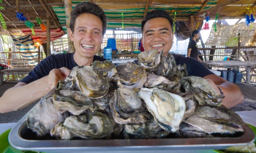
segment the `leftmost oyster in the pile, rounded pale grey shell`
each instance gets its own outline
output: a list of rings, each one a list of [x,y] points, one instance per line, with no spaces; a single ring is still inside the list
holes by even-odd
[[[40,101],[27,114],[27,127],[35,132],[38,136],[44,136],[60,121],[65,119],[53,103],[52,97]]]

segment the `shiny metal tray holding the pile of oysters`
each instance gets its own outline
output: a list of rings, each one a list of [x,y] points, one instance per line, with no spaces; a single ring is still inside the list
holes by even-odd
[[[51,95],[55,89],[49,92]],[[45,97],[47,97],[45,96]],[[45,98],[44,97],[44,98]],[[19,150],[46,152],[166,152],[166,150],[224,149],[234,145],[248,145],[255,140],[252,129],[243,125],[244,133],[238,137],[221,138],[164,138],[164,139],[111,139],[111,140],[53,140],[50,136],[37,137],[26,126],[26,117],[18,121],[11,130],[8,140]]]

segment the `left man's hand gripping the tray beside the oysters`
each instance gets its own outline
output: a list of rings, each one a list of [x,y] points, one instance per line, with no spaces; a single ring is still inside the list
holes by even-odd
[[[58,81],[64,80],[70,73],[70,70],[66,67],[61,67],[59,69],[52,69],[48,75],[49,85],[54,88]]]

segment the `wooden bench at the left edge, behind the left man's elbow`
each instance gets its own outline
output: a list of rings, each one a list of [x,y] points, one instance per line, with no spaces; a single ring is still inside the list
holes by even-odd
[[[0,70],[0,84],[3,84],[4,74],[28,74],[33,70],[34,67],[13,67],[10,69]]]

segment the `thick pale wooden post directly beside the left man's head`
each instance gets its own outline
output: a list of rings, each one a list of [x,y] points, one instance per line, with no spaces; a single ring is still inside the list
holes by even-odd
[[[69,36],[69,23],[70,23],[70,13],[72,11],[72,0],[64,0],[65,4],[65,12],[66,12],[66,29],[68,34],[68,46],[69,46],[69,52],[75,52],[74,43],[70,40]]]

